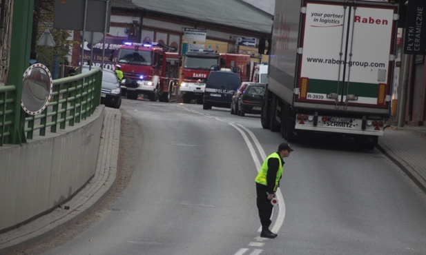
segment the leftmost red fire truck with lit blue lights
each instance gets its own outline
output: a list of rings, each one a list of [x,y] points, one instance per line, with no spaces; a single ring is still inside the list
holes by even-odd
[[[143,94],[150,101],[170,101],[179,79],[179,61],[179,54],[155,43],[124,43],[115,65],[124,74],[123,94],[128,99]]]

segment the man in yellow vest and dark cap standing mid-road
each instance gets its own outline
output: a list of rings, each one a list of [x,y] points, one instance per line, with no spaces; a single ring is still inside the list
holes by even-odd
[[[260,223],[262,224],[262,232],[260,237],[275,238],[278,234],[274,234],[269,230],[271,225],[271,215],[273,205],[271,200],[275,197],[275,192],[280,184],[282,176],[283,159],[293,152],[288,143],[281,143],[278,146],[278,151],[273,152],[260,167],[258,176],[256,176],[256,204],[258,205]]]

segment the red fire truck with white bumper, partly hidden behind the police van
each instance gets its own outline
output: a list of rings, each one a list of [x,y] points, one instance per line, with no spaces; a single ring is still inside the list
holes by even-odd
[[[182,64],[180,93],[184,103],[195,99],[203,103],[206,79],[211,70],[237,68],[242,81],[249,81],[251,58],[245,54],[218,53],[212,50],[188,51]]]

